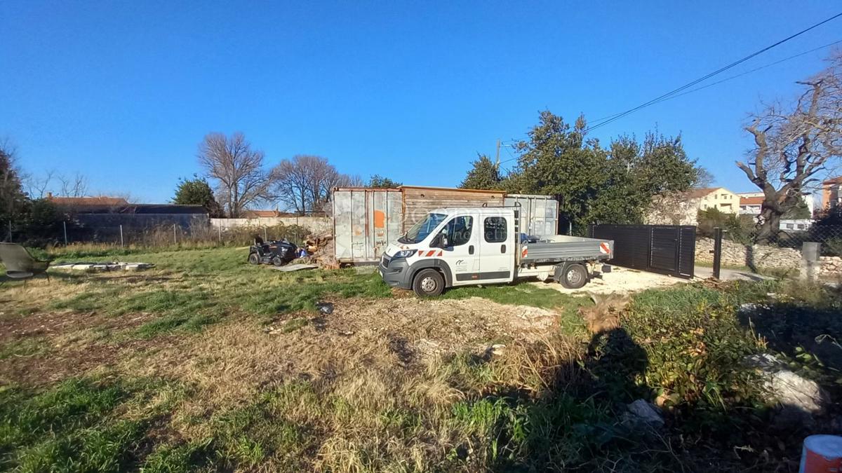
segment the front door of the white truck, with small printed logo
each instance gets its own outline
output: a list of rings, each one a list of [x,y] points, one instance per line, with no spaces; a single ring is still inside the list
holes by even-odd
[[[447,237],[448,246],[442,249],[441,258],[450,268],[453,285],[471,284],[479,273],[479,231],[472,215],[456,215],[448,221],[441,233]]]

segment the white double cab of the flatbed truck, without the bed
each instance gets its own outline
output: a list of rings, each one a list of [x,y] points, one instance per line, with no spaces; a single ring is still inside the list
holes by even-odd
[[[516,221],[512,207],[432,210],[386,247],[381,276],[386,284],[419,295],[510,282],[518,247]]]

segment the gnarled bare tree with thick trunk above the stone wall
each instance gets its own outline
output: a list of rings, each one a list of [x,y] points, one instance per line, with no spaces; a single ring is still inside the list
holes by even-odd
[[[778,234],[781,215],[802,202],[805,189],[829,173],[842,156],[842,54],[807,81],[790,107],[775,104],[754,115],[745,128],[754,137],[743,173],[763,191],[755,241],[767,243]]]

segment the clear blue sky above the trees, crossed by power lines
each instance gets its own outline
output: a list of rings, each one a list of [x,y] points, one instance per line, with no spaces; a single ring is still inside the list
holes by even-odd
[[[838,2],[0,2],[0,136],[29,173],[170,199],[210,131],[241,130],[269,165],[455,186],[477,152],[538,112],[595,120],[842,11]],[[842,19],[726,72],[842,40]],[[734,191],[761,100],[788,98],[829,49],[617,120],[656,125]],[[501,159],[508,159],[504,148]],[[509,163],[510,164],[510,163]]]

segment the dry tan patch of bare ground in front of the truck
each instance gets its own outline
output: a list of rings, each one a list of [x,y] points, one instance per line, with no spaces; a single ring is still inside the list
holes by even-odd
[[[400,376],[448,353],[539,340],[557,324],[553,311],[480,298],[331,302],[330,315],[296,312],[268,327],[251,318],[210,327],[152,356],[126,359],[121,369],[184,380],[200,391],[196,397],[205,404],[196,408],[205,410],[238,404],[288,380],[330,382],[360,369]],[[306,323],[288,323],[302,319]]]

